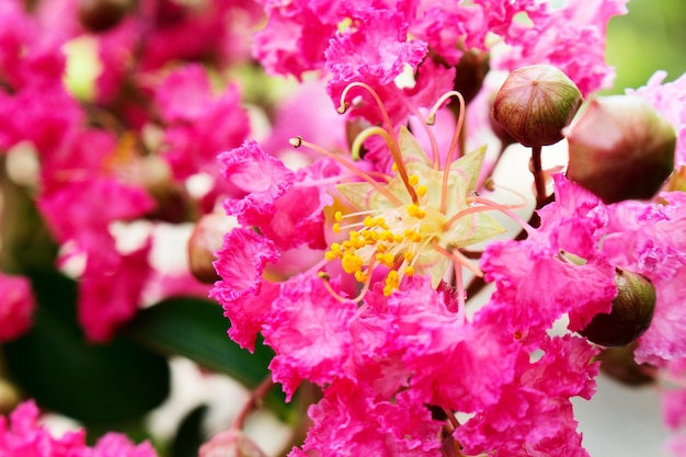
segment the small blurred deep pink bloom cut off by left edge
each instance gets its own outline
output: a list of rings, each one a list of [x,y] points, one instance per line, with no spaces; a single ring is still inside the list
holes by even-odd
[[[21,336],[31,328],[36,308],[31,283],[0,273],[0,342]]]

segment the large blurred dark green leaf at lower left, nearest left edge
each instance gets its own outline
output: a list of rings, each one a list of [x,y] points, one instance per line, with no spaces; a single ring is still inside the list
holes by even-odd
[[[76,283],[56,272],[30,276],[35,324],[3,346],[10,375],[26,396],[93,424],[139,418],[168,397],[164,357],[121,338],[89,344],[76,320]]]

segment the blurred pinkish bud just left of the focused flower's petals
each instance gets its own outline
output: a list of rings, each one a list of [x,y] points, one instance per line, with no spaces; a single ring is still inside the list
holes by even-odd
[[[201,218],[188,239],[188,270],[201,283],[214,284],[220,277],[213,262],[215,252],[221,249],[224,235],[237,226],[236,218],[210,213]]]

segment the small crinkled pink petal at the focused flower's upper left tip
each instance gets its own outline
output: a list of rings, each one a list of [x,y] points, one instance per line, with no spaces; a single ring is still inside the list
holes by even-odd
[[[226,180],[245,193],[242,198],[224,202],[229,215],[270,210],[295,181],[295,174],[281,160],[265,153],[253,140],[220,153],[218,160]]]

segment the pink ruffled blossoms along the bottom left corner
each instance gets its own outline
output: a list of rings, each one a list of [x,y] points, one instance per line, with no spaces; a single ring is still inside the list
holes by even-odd
[[[38,423],[39,411],[32,400],[21,403],[9,419],[0,416],[0,455],[3,457],[156,457],[150,443],[132,443],[118,433],[107,433],[90,447],[80,429],[54,437]]]

